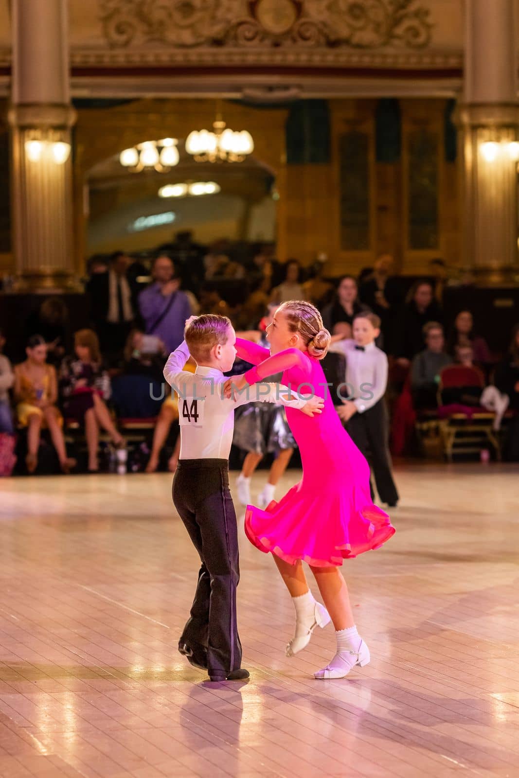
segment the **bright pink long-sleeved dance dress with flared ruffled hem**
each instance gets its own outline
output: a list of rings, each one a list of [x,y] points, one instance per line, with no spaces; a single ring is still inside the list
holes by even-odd
[[[339,566],[343,559],[380,548],[395,527],[373,505],[369,465],[342,426],[319,360],[298,349],[270,356],[268,349],[241,338],[236,348],[241,359],[255,365],[245,373],[248,384],[282,371],[285,386],[324,398],[323,412],[311,418],[286,408],[303,478],[265,510],[247,505],[247,538],[290,564],[302,559],[315,567]]]

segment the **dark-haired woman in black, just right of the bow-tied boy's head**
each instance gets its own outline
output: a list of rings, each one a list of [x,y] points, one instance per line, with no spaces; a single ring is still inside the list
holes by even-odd
[[[394,353],[399,365],[409,366],[413,357],[423,349],[424,326],[430,321],[442,321],[441,309],[433,298],[430,282],[417,281],[409,289],[405,306],[398,316]]]

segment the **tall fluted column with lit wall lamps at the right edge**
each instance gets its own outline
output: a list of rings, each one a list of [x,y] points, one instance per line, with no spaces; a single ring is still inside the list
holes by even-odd
[[[519,103],[515,0],[465,0],[465,79],[458,109],[464,263],[482,283],[510,282],[517,264]]]

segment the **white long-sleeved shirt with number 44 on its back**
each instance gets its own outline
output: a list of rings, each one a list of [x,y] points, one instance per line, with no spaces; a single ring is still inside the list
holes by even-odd
[[[303,408],[305,398],[288,399],[289,390],[281,384],[254,384],[238,394],[236,400],[226,398],[223,385],[226,377],[221,370],[197,367],[195,373],[183,370],[189,359],[189,349],[182,342],[170,354],[164,377],[178,393],[178,413],[181,425],[181,459],[228,459],[233,442],[234,408],[251,401],[275,402],[290,408]]]

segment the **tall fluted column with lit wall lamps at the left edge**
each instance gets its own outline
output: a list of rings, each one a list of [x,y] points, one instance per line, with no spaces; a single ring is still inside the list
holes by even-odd
[[[66,0],[12,0],[15,290],[75,289]]]

